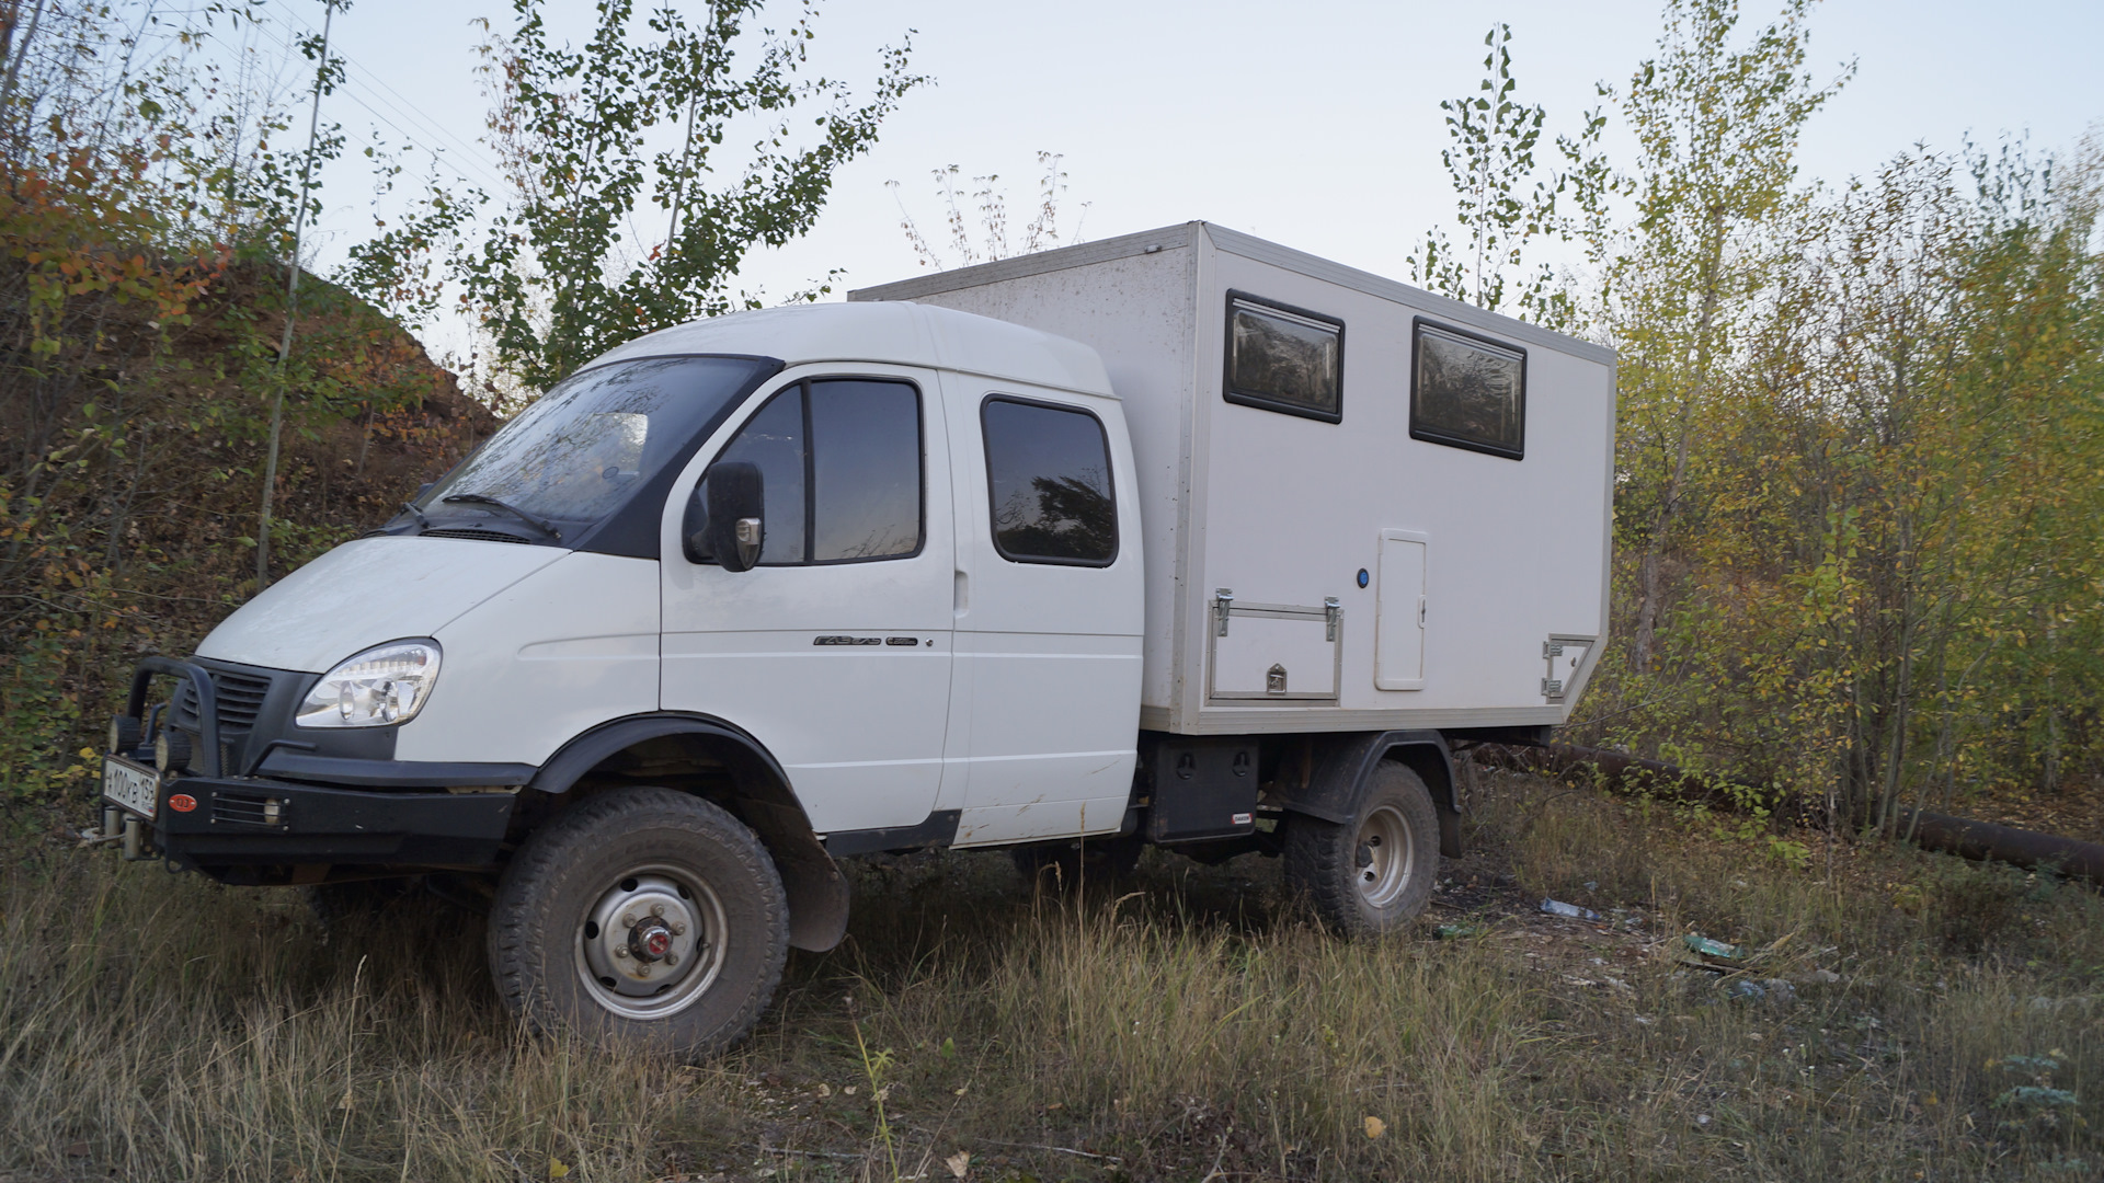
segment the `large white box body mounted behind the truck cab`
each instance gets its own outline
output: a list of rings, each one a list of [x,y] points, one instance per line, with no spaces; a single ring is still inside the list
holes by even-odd
[[[1340,421],[1222,398],[1229,293],[1344,324]],[[1610,349],[1208,223],[848,299],[974,312],[1102,356],[1138,469],[1142,728],[1570,720],[1607,636]],[[1525,352],[1519,459],[1412,438],[1418,320]]]

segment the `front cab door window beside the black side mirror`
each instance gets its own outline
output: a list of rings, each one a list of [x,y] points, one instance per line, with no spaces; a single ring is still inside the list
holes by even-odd
[[[926,482],[919,389],[911,383],[797,383],[768,400],[715,459],[760,467],[762,566],[919,554]],[[707,526],[707,488],[703,480],[688,503],[688,537]]]

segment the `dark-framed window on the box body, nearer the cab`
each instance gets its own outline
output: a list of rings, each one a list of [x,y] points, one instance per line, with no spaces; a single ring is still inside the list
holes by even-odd
[[[1338,423],[1344,417],[1344,322],[1227,293],[1222,394],[1241,406]]]

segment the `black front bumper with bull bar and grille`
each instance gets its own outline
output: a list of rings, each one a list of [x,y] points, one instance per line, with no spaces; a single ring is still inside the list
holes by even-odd
[[[248,726],[236,735],[225,735],[221,724],[219,680],[229,671],[274,686],[261,709],[246,711]],[[177,678],[179,701],[149,714],[145,699],[154,676]],[[160,777],[154,819],[133,823],[151,827],[160,857],[223,882],[252,884],[311,882],[332,867],[497,863],[518,787],[537,770],[532,764],[391,760],[391,735],[381,758],[318,751],[316,739],[271,726],[274,716],[290,718],[288,709],[274,709],[276,699],[305,693],[301,678],[311,682],[311,676],[227,663],[168,657],[139,663],[126,711],[143,722],[147,743],[154,726],[173,726],[191,737],[194,751],[187,770]],[[151,764],[145,749],[118,756]]]

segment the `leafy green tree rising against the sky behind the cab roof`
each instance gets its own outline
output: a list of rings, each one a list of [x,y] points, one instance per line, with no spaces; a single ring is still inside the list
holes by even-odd
[[[631,0],[600,0],[581,48],[549,38],[545,0],[513,8],[511,38],[484,44],[509,204],[452,276],[497,364],[528,389],[642,333],[755,305],[730,288],[745,255],[808,232],[833,171],[924,82],[909,44],[882,51],[861,105],[844,82],[806,76],[814,0],[757,36],[745,23],[762,0],[711,0],[696,23],[669,4],[638,21]],[[656,128],[671,143],[650,152]],[[711,185],[739,128],[755,128],[749,158]],[[644,202],[663,229],[640,217]]]

